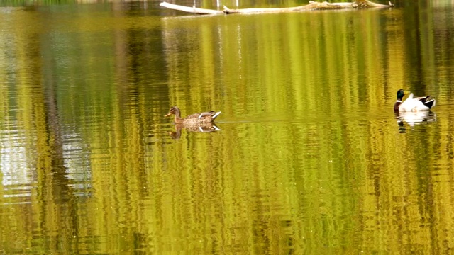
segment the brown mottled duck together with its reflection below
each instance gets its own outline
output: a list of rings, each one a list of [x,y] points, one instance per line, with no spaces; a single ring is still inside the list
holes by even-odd
[[[194,113],[188,115],[186,118],[181,117],[181,113],[177,106],[170,108],[169,113],[165,115],[168,117],[170,115],[175,115],[175,132],[171,132],[170,136],[172,138],[179,138],[181,136],[182,128],[185,128],[189,132],[214,132],[219,131],[220,129],[214,124],[214,119],[221,114],[220,111],[209,111],[202,113]]]

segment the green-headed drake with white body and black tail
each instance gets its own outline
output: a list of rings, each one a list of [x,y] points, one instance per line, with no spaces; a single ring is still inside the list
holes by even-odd
[[[394,111],[428,111],[435,106],[435,99],[430,98],[431,96],[413,97],[413,93],[410,94],[409,98],[406,98],[402,102],[402,98],[405,96],[405,91],[399,89],[397,91],[397,101],[394,103]]]

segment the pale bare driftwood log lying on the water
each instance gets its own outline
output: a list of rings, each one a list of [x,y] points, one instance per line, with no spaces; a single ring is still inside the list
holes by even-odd
[[[309,4],[305,6],[289,7],[289,8],[243,8],[243,9],[230,9],[224,6],[223,11],[211,10],[206,8],[196,8],[179,6],[177,4],[169,4],[162,2],[160,6],[170,8],[172,10],[184,11],[187,13],[194,14],[231,14],[231,13],[273,13],[273,12],[285,12],[285,11],[310,11],[310,10],[333,10],[343,8],[384,8],[392,7],[393,4],[389,2],[389,5],[376,4],[368,0],[356,0],[352,3],[328,3],[328,2],[316,2],[309,1]]]

